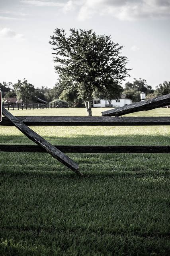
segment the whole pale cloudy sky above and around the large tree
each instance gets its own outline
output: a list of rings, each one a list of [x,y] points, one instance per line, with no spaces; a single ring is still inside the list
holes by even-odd
[[[0,0],[0,82],[53,87],[56,27],[111,34],[133,68],[130,81],[170,80],[170,0]]]

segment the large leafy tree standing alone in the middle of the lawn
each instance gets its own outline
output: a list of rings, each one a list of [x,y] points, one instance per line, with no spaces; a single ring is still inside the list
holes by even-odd
[[[70,29],[66,36],[64,29],[56,28],[49,43],[53,45],[55,71],[72,79],[89,116],[92,93],[105,92],[107,84],[120,84],[128,75],[127,57],[121,55],[123,46],[112,42],[110,36],[82,29]]]

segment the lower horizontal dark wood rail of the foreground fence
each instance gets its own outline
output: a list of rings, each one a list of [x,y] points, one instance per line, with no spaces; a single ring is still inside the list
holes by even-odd
[[[68,153],[170,153],[170,146],[55,146]],[[0,145],[0,152],[46,153],[34,145]]]

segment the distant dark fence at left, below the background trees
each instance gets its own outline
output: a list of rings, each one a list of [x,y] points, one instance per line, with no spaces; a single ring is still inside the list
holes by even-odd
[[[23,104],[23,103],[3,103],[4,108],[8,110],[19,110],[19,109],[38,109],[38,108],[68,108],[68,103],[65,102],[53,102],[53,103],[32,103],[32,104]]]

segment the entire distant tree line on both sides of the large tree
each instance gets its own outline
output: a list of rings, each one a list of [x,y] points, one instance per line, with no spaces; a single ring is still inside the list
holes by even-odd
[[[69,88],[73,88],[70,90]],[[80,107],[84,104],[83,97],[80,96],[78,90],[74,88],[72,80],[68,77],[61,77],[53,88],[47,88],[41,86],[35,88],[33,84],[30,84],[26,79],[22,82],[18,80],[17,83],[2,82],[0,83],[0,90],[2,91],[2,98],[16,97],[18,100],[23,100],[25,104],[34,103],[37,98],[41,98],[47,102],[66,101],[70,107]],[[141,100],[140,93],[145,92],[146,98],[154,98],[165,94],[170,94],[170,81],[164,81],[162,84],[156,86],[154,90],[152,86],[147,84],[145,79],[134,78],[133,82],[127,82],[124,86],[119,85],[117,94],[113,90],[112,86],[108,86],[105,92],[95,90],[92,93],[92,98],[107,99],[111,104],[111,100],[118,99],[120,94],[126,94],[126,98],[132,100],[132,102],[138,102]]]

